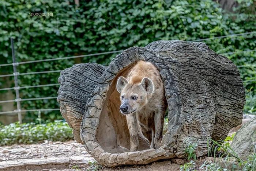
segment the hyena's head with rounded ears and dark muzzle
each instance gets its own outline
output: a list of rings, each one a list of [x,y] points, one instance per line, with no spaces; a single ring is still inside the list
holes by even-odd
[[[151,79],[144,77],[140,83],[131,84],[124,77],[117,80],[117,91],[120,93],[120,111],[123,114],[131,114],[139,111],[147,104],[154,91]]]

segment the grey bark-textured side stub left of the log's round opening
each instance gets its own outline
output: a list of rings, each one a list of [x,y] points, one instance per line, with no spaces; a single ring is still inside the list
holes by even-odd
[[[60,103],[61,115],[73,128],[74,139],[78,143],[82,143],[80,125],[86,102],[105,69],[105,66],[97,63],[86,63],[74,65],[60,73],[57,101]]]

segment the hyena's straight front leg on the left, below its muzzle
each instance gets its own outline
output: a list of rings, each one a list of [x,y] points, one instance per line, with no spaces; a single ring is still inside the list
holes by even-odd
[[[130,133],[130,151],[138,151],[139,139],[138,139],[138,125],[135,114],[129,114],[126,116],[128,129]]]

